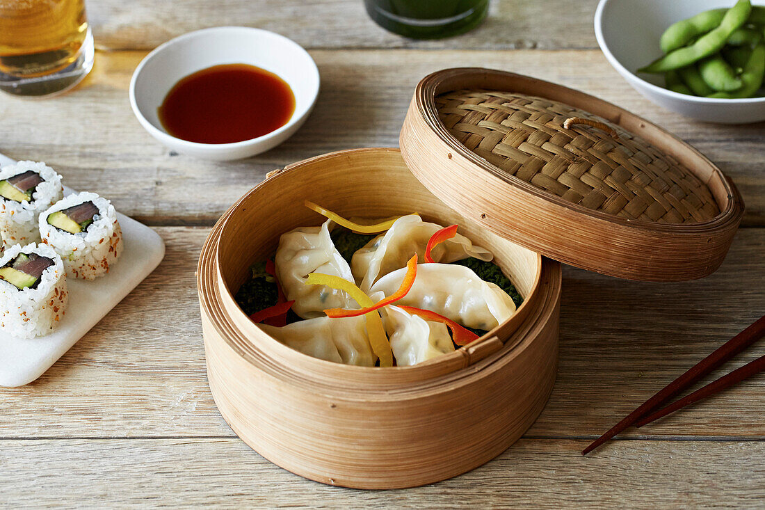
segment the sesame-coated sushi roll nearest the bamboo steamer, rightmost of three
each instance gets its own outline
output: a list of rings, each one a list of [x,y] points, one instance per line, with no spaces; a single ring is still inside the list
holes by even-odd
[[[57,201],[40,214],[42,242],[63,259],[69,276],[95,280],[109,272],[122,253],[122,229],[114,206],[95,193]]]

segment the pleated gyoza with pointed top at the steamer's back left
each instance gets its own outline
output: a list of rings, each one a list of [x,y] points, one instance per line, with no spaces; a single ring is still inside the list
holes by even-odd
[[[353,282],[350,266],[337,251],[329,230],[330,220],[321,227],[301,227],[282,234],[274,263],[288,300],[295,300],[292,309],[303,319],[324,315],[327,308],[358,308],[342,290],[325,285],[306,285],[311,273],[340,276]]]

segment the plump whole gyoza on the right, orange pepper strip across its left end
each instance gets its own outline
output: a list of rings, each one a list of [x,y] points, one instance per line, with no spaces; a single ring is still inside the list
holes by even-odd
[[[405,274],[406,268],[402,268],[382,276],[371,292],[392,295]],[[441,263],[419,264],[412,289],[396,304],[431,310],[468,328],[486,331],[516,311],[513,299],[499,286],[484,282],[468,267]]]

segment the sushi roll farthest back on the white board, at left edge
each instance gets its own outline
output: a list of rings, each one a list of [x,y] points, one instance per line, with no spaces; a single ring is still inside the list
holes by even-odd
[[[61,176],[45,163],[20,161],[0,169],[3,247],[39,243],[37,217],[62,196]]]

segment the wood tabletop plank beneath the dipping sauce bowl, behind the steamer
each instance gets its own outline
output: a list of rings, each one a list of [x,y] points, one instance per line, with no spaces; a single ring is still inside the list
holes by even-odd
[[[529,2],[532,3],[532,2]],[[29,102],[0,96],[0,152],[48,162],[67,184],[91,189],[150,224],[212,224],[265,173],[323,152],[396,146],[416,83],[452,66],[495,67],[565,83],[675,132],[716,162],[744,195],[745,225],[765,225],[765,124],[697,123],[649,103],[600,51],[313,51],[322,91],[290,140],[239,162],[205,162],[155,142],[130,110],[127,89],[144,52],[99,52],[73,93]]]

